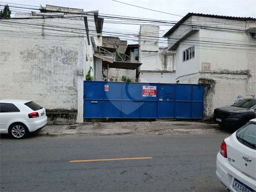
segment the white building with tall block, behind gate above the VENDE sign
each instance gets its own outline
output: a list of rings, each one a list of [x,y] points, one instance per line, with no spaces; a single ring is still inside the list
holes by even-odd
[[[175,83],[175,52],[159,48],[159,26],[141,25],[138,59],[139,82]]]

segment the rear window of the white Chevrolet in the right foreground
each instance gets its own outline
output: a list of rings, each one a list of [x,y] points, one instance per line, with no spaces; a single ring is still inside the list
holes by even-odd
[[[240,143],[256,149],[256,124],[249,123],[240,128],[236,132],[236,138]]]

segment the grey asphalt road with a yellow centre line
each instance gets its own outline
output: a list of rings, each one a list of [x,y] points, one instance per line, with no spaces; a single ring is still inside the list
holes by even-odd
[[[1,138],[1,191],[226,191],[216,154],[229,134]],[[70,162],[105,158],[140,160]]]

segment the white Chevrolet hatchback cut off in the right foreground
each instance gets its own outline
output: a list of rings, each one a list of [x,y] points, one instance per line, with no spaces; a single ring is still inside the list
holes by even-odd
[[[256,119],[224,139],[216,160],[216,174],[230,191],[256,191]]]

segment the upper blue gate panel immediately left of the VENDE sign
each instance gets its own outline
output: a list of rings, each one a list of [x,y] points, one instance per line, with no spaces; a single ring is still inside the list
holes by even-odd
[[[124,83],[122,88],[123,100],[140,100],[140,83]]]

